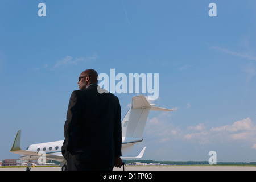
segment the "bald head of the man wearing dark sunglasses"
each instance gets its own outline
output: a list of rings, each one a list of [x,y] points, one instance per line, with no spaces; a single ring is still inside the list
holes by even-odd
[[[86,69],[79,78],[79,89],[85,89],[90,84],[98,84],[98,73],[94,69]]]

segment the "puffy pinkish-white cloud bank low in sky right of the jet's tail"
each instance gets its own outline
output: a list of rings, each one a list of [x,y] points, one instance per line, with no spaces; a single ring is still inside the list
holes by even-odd
[[[256,125],[249,117],[233,122],[232,125],[209,127],[209,122],[204,122],[181,130],[171,121],[171,113],[160,113],[148,119],[145,131],[147,139],[159,143],[168,143],[170,140],[199,145],[243,142],[256,149]]]

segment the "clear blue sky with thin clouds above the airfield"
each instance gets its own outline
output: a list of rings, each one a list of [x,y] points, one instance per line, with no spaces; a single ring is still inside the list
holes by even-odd
[[[46,4],[46,17],[38,4]],[[210,17],[209,3],[217,16]],[[256,161],[255,1],[0,2],[0,159],[64,139],[70,94],[88,68],[159,73],[143,159]],[[122,117],[136,94],[116,94]]]

